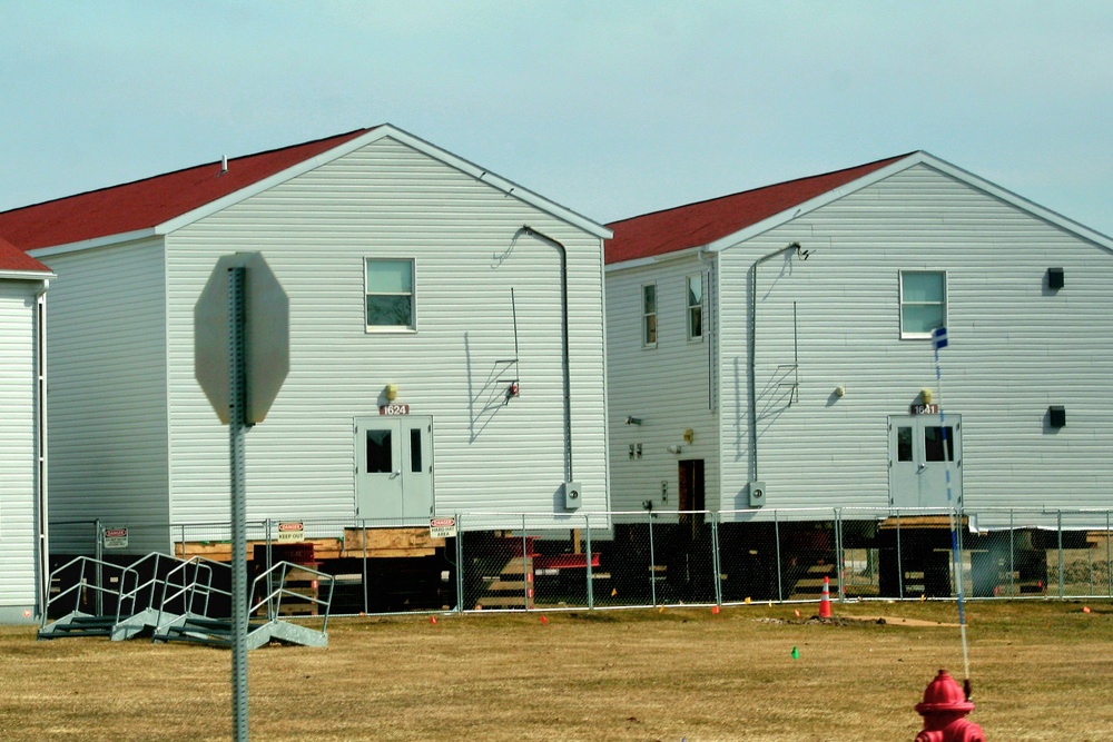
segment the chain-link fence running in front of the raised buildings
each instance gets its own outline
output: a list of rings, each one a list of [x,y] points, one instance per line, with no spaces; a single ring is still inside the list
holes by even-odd
[[[333,614],[831,600],[1113,597],[1113,511],[762,509],[460,514],[423,522],[253,521],[248,565],[335,576]],[[447,530],[445,527],[447,526]],[[119,564],[130,528],[69,523]],[[226,523],[160,531],[178,560],[230,561]],[[52,551],[59,551],[57,547]],[[56,564],[76,553],[59,552]],[[961,566],[956,570],[956,564]],[[88,575],[75,578],[88,581]],[[67,585],[56,575],[52,590]],[[312,590],[318,587],[314,583]]]

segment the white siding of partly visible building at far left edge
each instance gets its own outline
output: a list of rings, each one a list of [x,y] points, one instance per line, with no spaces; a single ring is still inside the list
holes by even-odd
[[[0,278],[0,623],[36,603],[36,291]]]

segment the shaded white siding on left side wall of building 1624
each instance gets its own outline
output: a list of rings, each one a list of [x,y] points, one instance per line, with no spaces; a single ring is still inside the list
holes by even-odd
[[[129,553],[166,550],[161,240],[43,260],[58,274],[48,334],[51,548],[91,553],[99,518],[129,528]],[[86,523],[61,524],[73,521]]]

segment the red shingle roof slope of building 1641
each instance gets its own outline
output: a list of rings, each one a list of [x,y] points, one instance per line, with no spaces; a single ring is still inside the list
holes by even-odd
[[[781,211],[857,180],[907,155],[825,175],[789,180],[708,201],[653,211],[607,227],[607,263],[621,263],[708,245]]]

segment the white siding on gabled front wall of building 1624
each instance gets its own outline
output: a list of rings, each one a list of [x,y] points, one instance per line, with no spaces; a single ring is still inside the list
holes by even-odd
[[[168,236],[175,522],[227,517],[193,307],[237,250],[262,250],[290,303],[290,372],[247,436],[249,518],[354,517],[353,422],[388,384],[433,417],[437,514],[562,513],[560,250],[525,225],[567,247],[573,478],[581,512],[607,509],[600,239],[387,138]],[[367,333],[364,260],[410,256],[420,332]],[[508,378],[521,396],[505,403]]]

